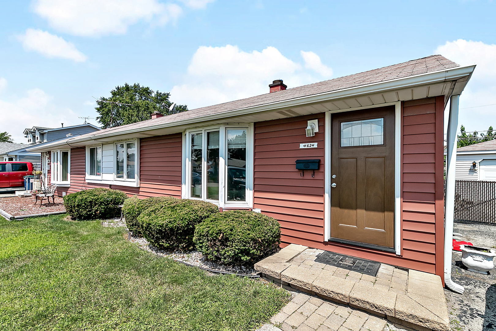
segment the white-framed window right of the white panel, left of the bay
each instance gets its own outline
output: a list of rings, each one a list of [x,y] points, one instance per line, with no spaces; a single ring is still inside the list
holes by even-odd
[[[136,181],[136,141],[117,142],[114,152],[115,179]]]

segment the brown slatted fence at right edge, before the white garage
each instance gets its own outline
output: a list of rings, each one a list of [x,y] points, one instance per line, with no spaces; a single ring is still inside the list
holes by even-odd
[[[455,219],[496,223],[496,182],[457,180],[454,216]]]

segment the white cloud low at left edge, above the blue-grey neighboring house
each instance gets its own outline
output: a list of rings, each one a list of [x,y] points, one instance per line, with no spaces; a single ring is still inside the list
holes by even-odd
[[[0,109],[2,131],[10,133],[14,142],[26,142],[22,134],[25,128],[60,128],[61,123],[66,127],[82,123],[71,109],[57,106],[53,98],[39,88],[12,100],[0,99]]]

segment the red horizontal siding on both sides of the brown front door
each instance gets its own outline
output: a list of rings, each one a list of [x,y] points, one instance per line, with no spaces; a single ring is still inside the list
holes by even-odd
[[[254,207],[279,220],[282,246],[302,244],[441,274],[442,175],[437,170],[442,166],[443,107],[442,97],[402,105],[401,256],[323,241],[323,130],[311,138],[304,131],[307,121],[315,118],[323,128],[323,115],[255,123]],[[299,148],[299,143],[308,141],[318,142],[318,148]],[[295,169],[299,158],[321,160],[314,178],[308,173],[300,177]]]

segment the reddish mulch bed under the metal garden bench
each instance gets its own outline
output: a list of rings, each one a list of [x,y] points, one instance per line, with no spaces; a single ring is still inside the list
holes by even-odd
[[[50,199],[52,201],[52,199]],[[43,200],[43,205],[40,207],[40,200],[35,204],[35,199],[31,197],[10,197],[0,198],[0,209],[9,213],[12,216],[23,216],[32,214],[41,214],[45,212],[65,211],[63,199],[55,197],[55,203],[48,203],[47,199]]]

